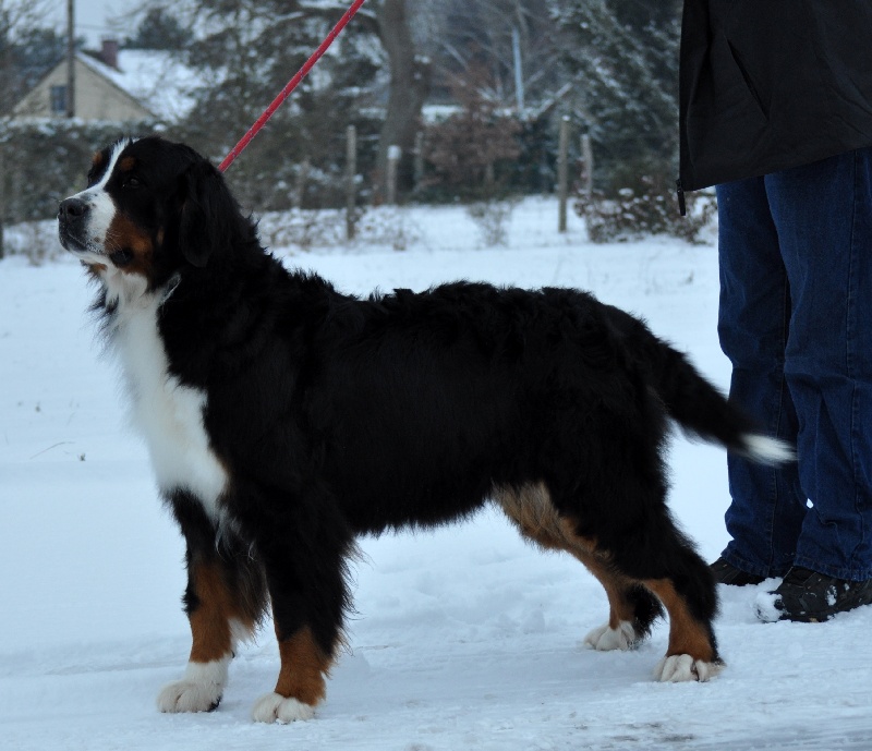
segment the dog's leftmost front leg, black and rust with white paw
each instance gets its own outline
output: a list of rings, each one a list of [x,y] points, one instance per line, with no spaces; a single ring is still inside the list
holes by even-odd
[[[164,687],[161,712],[210,712],[221,701],[238,641],[254,631],[265,606],[259,565],[242,544],[217,529],[202,508],[173,500],[187,543],[185,611],[191,625],[191,655],[184,677]]]

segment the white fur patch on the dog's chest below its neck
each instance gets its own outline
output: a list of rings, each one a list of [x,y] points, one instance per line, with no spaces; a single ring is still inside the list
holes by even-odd
[[[217,519],[228,483],[203,423],[206,393],[179,383],[157,328],[159,298],[145,294],[121,305],[114,341],[133,402],[132,417],[145,437],[158,486],[184,489]]]

